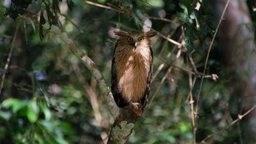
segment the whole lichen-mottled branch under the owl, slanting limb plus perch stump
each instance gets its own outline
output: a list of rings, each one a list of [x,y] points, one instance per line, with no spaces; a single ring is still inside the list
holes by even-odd
[[[32,17],[31,17],[32,16]],[[34,19],[34,15],[31,13],[24,12],[24,17],[29,20],[33,20],[39,23],[38,19]],[[138,105],[130,105],[129,107],[119,108],[115,103],[112,93],[110,92],[109,86],[101,74],[97,65],[90,59],[79,47],[74,43],[74,41],[69,38],[66,32],[63,32],[58,26],[50,25],[45,22],[43,29],[54,33],[58,38],[60,38],[63,43],[65,43],[69,50],[71,50],[75,56],[90,70],[92,76],[96,79],[98,86],[103,94],[104,99],[109,107],[110,114],[114,118],[114,124],[112,130],[110,131],[108,143],[127,143],[129,137],[132,133],[135,123],[142,116],[142,109]]]

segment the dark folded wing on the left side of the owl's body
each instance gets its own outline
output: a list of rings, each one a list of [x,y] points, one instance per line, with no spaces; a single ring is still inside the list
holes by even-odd
[[[115,49],[117,48],[117,43],[115,44]],[[121,92],[120,92],[120,88],[118,86],[118,79],[117,79],[117,69],[115,69],[115,49],[114,49],[114,53],[113,53],[113,59],[112,59],[112,67],[111,67],[111,92],[113,94],[113,97],[115,99],[115,103],[117,103],[117,105],[119,107],[125,107],[128,105],[128,101],[126,101]]]

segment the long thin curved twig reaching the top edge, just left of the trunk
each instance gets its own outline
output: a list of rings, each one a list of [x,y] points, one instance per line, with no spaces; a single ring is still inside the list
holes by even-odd
[[[223,20],[223,16],[224,16],[224,14],[225,14],[226,8],[228,8],[229,2],[230,2],[230,0],[228,0],[228,2],[226,2],[225,8],[224,8],[224,10],[223,10],[223,12],[222,12],[222,16],[221,16],[220,19],[219,19],[218,26],[217,26],[217,28],[216,28],[216,31],[215,31],[215,33],[214,33],[214,35],[213,35],[211,44],[210,44],[210,46],[209,46],[208,53],[207,53],[207,57],[206,57],[206,61],[205,61],[205,68],[203,69],[203,75],[205,75],[205,71],[206,71],[206,67],[207,67],[207,62],[208,62],[208,58],[209,58],[209,55],[210,55],[210,51],[211,51],[211,49],[212,49],[213,41],[214,41],[214,39],[215,39],[215,37],[216,37],[216,34],[217,34],[217,32],[218,32],[220,23],[221,23],[222,20]],[[200,88],[199,88],[199,93],[198,93],[198,95],[197,95],[196,113],[197,113],[197,110],[198,110],[198,102],[199,102],[199,99],[200,99],[200,93],[201,93],[201,89],[202,89],[203,78],[204,78],[204,77],[202,77],[202,80],[201,80],[201,83],[200,83]]]

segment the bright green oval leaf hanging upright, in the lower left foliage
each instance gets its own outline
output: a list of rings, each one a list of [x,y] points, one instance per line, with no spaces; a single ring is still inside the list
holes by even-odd
[[[27,118],[28,121],[34,123],[37,121],[39,116],[39,107],[36,100],[31,100],[27,106]]]

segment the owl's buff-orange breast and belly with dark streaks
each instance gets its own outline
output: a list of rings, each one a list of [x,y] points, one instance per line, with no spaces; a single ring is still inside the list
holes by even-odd
[[[149,46],[134,49],[120,44],[114,55],[120,93],[127,101],[139,103],[146,91],[152,61]]]

